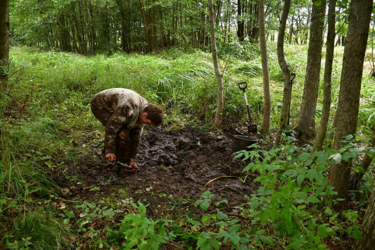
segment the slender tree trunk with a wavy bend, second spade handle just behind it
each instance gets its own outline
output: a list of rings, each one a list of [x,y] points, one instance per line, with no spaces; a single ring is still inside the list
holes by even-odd
[[[290,10],[290,1],[291,0],[285,0],[284,7],[281,14],[281,20],[279,25],[279,32],[278,32],[278,46],[277,46],[277,52],[278,52],[278,62],[280,65],[280,68],[283,73],[284,77],[284,93],[282,98],[282,109],[281,109],[281,117],[280,117],[280,123],[279,123],[279,129],[276,133],[275,138],[275,144],[273,145],[273,148],[276,148],[277,145],[280,143],[280,135],[283,129],[287,127],[288,122],[288,113],[289,113],[289,107],[290,107],[290,96],[291,96],[291,82],[290,82],[290,68],[287,63],[287,60],[285,60],[284,56],[284,36],[285,36],[285,26],[287,24],[287,18]]]

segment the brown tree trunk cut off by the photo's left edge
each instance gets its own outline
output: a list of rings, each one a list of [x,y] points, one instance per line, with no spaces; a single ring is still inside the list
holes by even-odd
[[[9,75],[9,0],[0,3],[0,91],[6,90]]]

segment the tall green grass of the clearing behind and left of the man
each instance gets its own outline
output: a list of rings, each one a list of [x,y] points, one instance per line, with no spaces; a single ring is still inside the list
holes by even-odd
[[[338,105],[342,54],[335,48],[332,77],[332,115]],[[219,51],[220,52],[220,51]],[[277,62],[276,45],[269,43],[271,126],[278,124],[282,106],[282,73]],[[291,105],[291,125],[297,123],[303,95],[307,46],[287,45],[285,55],[294,79]],[[211,54],[180,51],[162,52],[157,55],[117,53],[110,57],[62,52],[42,52],[27,47],[10,48],[12,58],[9,94],[0,96],[0,235],[9,231],[9,237],[22,241],[30,237],[26,222],[42,225],[54,217],[50,210],[31,210],[43,207],[36,200],[48,198],[57,187],[52,180],[54,171],[62,172],[91,156],[87,145],[102,138],[101,124],[90,113],[89,103],[101,90],[113,87],[130,88],[149,102],[165,108],[166,122],[171,127],[181,124],[209,127],[216,110],[216,78]],[[263,80],[260,55],[254,60],[243,61],[230,57],[226,64],[224,82],[225,108],[223,115],[227,127],[244,124],[247,119],[242,91],[237,82],[247,81],[247,96],[254,120],[262,122]],[[24,67],[24,68],[23,68]],[[321,80],[323,80],[324,58]],[[23,117],[18,117],[18,101],[29,95]],[[5,98],[7,97],[7,98]],[[17,100],[15,100],[17,99]],[[316,123],[319,125],[323,91],[319,90]],[[358,130],[369,135],[375,121],[375,80],[363,73]],[[51,174],[52,173],[52,174]],[[66,177],[68,178],[68,177]],[[370,180],[370,178],[369,178]],[[53,192],[53,191],[52,191]],[[14,226],[9,229],[9,222]],[[51,227],[58,228],[59,220],[52,220]],[[53,226],[54,225],[54,226]],[[61,229],[62,230],[62,229]],[[24,233],[27,232],[27,233]],[[51,243],[61,238],[56,232],[43,232]],[[63,234],[69,234],[66,229]],[[41,235],[34,234],[33,246],[41,242]],[[54,238],[56,237],[56,238]],[[25,238],[25,239],[26,239]],[[66,238],[64,238],[66,239]],[[66,244],[60,239],[61,246]],[[4,241],[3,241],[4,244]],[[40,245],[39,245],[40,246]],[[0,242],[1,247],[1,242]],[[48,248],[46,248],[48,249]]]

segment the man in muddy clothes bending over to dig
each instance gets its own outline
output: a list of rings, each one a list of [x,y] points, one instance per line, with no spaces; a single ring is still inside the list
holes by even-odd
[[[136,155],[144,124],[159,125],[163,108],[126,88],[110,88],[91,101],[93,115],[105,126],[105,158],[129,162],[138,171]]]

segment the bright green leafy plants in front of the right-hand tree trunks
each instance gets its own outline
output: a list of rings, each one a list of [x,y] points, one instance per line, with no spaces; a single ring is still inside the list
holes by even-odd
[[[249,209],[243,209],[246,217],[252,219],[252,232],[271,229],[270,234],[285,242],[285,249],[326,249],[324,238],[339,238],[336,235],[353,235],[360,239],[359,226],[354,211],[346,211],[342,217],[347,222],[339,223],[338,213],[333,213],[332,205],[340,199],[332,199],[337,194],[329,186],[327,168],[341,160],[358,159],[364,153],[359,150],[356,140],[348,135],[342,142],[347,143],[340,150],[328,149],[308,153],[311,147],[296,147],[292,136],[283,134],[285,145],[267,152],[265,150],[240,151],[236,157],[251,162],[243,172],[258,172],[254,181],[260,182],[258,193],[251,195]],[[259,145],[252,145],[257,149]],[[353,219],[354,218],[354,219]],[[257,239],[266,244],[263,239]]]

